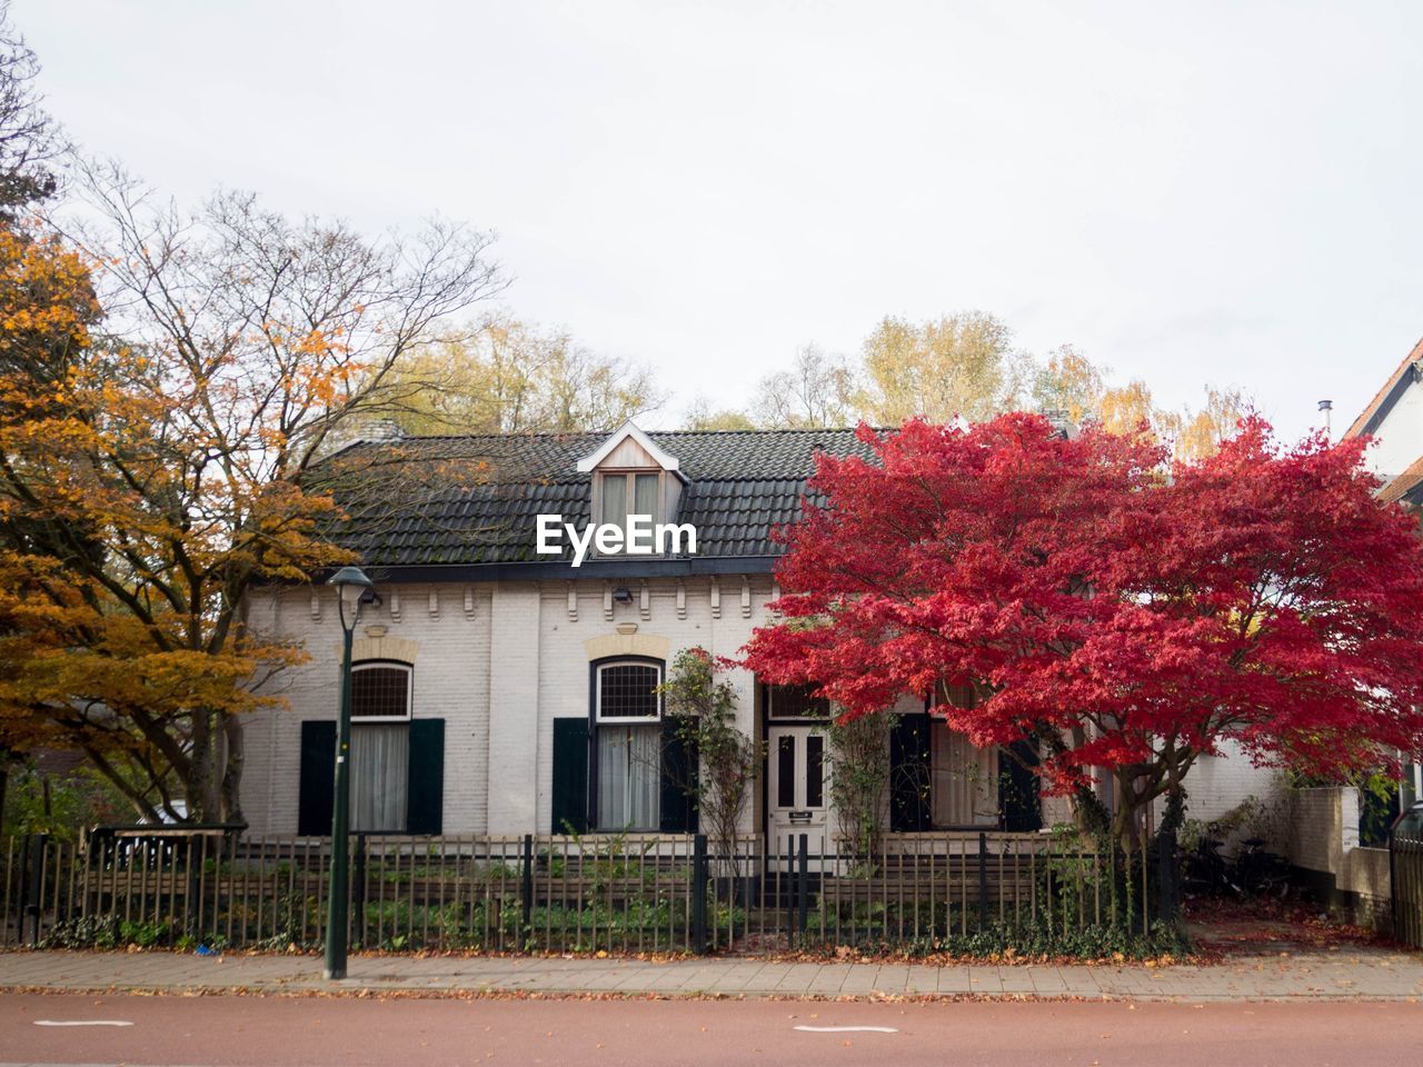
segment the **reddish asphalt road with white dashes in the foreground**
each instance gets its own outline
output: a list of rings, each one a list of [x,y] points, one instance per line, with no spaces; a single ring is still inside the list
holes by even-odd
[[[1420,1047],[1409,1003],[0,996],[4,1064],[1399,1067]]]

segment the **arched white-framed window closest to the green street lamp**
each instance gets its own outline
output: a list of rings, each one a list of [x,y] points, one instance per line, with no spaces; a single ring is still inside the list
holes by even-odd
[[[411,676],[407,663],[356,663],[351,667],[350,809],[354,831],[406,831]]]

